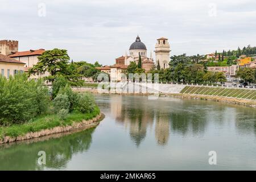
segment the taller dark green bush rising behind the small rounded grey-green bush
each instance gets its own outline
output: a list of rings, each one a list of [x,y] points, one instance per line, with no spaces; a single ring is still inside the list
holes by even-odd
[[[69,112],[72,112],[75,109],[75,106],[79,102],[79,95],[72,91],[71,86],[68,84],[64,87],[61,87],[58,94],[67,94],[68,100],[70,102]]]

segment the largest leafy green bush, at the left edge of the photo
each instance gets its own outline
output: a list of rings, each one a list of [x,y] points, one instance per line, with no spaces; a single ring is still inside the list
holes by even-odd
[[[43,82],[28,80],[26,74],[0,76],[0,125],[26,122],[49,105],[48,90]]]

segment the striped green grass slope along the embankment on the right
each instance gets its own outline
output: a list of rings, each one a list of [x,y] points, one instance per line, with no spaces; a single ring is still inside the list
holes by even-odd
[[[180,93],[203,94],[256,100],[256,90],[238,88],[212,88],[207,86],[185,86]]]

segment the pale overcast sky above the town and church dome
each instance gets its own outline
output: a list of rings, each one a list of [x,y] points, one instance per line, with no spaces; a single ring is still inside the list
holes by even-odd
[[[19,51],[67,49],[74,61],[114,64],[137,35],[148,56],[160,37],[171,55],[256,46],[255,0],[0,2],[0,39],[19,40]]]

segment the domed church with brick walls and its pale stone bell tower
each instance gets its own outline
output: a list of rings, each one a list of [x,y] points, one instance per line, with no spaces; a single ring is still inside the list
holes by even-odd
[[[150,57],[147,57],[147,48],[144,43],[141,42],[139,36],[137,36],[134,43],[131,44],[129,49],[129,55],[127,53],[125,56],[118,57],[115,59],[115,64],[112,66],[105,65],[104,67],[98,67],[102,72],[109,73],[110,80],[119,81],[121,80],[121,73],[125,73],[128,65],[131,62],[135,62],[138,65],[139,57],[142,61],[142,69],[145,72],[155,69],[156,65],[160,65],[160,68],[168,68],[170,62],[170,44],[168,39],[159,38],[157,39],[155,45],[155,59],[152,58],[152,52],[150,52]]]

